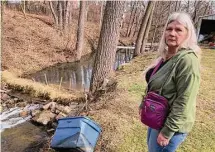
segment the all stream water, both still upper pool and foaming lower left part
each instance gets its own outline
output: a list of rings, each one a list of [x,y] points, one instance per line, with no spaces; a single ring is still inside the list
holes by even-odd
[[[116,53],[113,69],[116,70],[120,65],[128,63],[133,58],[133,50],[118,50]],[[83,90],[90,85],[94,55],[84,56],[80,62],[63,63],[48,67],[27,78],[34,81],[60,85],[65,88]],[[2,150],[8,152],[20,151],[41,151],[47,143],[47,134],[41,128],[31,124],[20,113],[32,109],[38,109],[39,105],[27,105],[25,108],[14,107],[0,113],[0,132],[2,134]],[[36,146],[35,146],[36,145]]]

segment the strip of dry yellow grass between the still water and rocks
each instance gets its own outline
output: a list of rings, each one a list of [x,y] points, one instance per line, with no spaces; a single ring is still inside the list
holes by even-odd
[[[50,99],[52,101],[67,104],[71,101],[82,100],[83,95],[80,92],[69,92],[64,89],[56,89],[58,87],[51,85],[44,85],[32,80],[19,78],[9,71],[2,72],[2,81],[5,82],[9,88],[13,90],[28,93],[33,97],[41,97]]]

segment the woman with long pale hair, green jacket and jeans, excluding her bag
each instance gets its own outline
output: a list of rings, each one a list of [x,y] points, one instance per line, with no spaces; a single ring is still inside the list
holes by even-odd
[[[186,13],[173,13],[164,29],[158,49],[159,57],[146,70],[146,81],[147,92],[158,92],[162,87],[161,96],[168,100],[170,108],[161,130],[148,128],[149,152],[174,152],[185,140],[195,121],[200,84],[201,50],[197,45],[190,16]],[[161,65],[151,76],[161,59]]]

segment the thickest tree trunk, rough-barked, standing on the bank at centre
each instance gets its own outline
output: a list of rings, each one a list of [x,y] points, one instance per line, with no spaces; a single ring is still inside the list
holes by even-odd
[[[104,79],[112,76],[125,1],[107,1],[98,49],[92,72],[90,92],[96,92]]]

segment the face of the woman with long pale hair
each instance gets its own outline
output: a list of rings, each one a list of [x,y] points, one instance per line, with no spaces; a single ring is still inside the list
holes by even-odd
[[[173,21],[167,25],[165,31],[165,41],[168,47],[178,47],[187,38],[187,29],[178,21]]]

